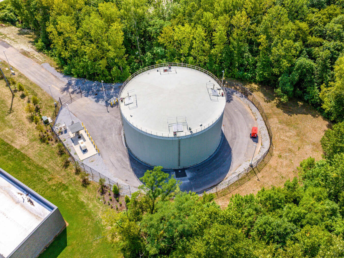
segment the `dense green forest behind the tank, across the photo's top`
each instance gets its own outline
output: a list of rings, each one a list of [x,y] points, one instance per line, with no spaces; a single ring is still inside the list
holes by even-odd
[[[67,74],[119,82],[144,66],[183,62],[268,84],[281,101],[298,97],[338,120],[343,6],[342,0],[10,0],[0,19],[8,14],[7,21],[37,31],[37,47]]]

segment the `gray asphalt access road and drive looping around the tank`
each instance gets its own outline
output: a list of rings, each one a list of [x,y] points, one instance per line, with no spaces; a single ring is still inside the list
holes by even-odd
[[[58,79],[12,46],[0,41],[0,58],[2,60],[6,60],[3,54],[4,50],[6,50],[5,53],[10,64],[15,69],[18,69],[48,94],[50,94],[49,85],[52,85],[51,89],[55,99],[63,95],[61,89],[65,87],[65,81]],[[7,65],[3,63],[3,66]],[[122,182],[138,186],[140,184],[138,178],[149,167],[136,161],[133,157],[128,159],[122,141],[119,109],[108,107],[109,112],[107,112],[104,105],[97,104],[86,97],[74,101],[68,107],[76,117],[83,121],[97,143],[104,162],[109,167],[109,173],[99,172],[110,179],[118,178]],[[248,106],[236,96],[227,96],[222,127],[224,132],[222,145],[207,162],[185,170],[186,177],[179,178],[183,182],[181,190],[199,192],[207,189],[231,176],[241,163],[249,161],[254,152],[253,144],[256,142],[256,139],[249,137],[252,126],[257,126],[257,122]],[[257,147],[256,154],[259,152],[260,141]],[[169,171],[169,173],[175,174],[174,171]]]

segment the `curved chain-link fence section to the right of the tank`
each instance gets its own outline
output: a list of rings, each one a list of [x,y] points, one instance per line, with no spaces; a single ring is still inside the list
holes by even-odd
[[[251,166],[241,171],[239,174],[219,183],[212,189],[206,191],[207,193],[216,193],[217,198],[222,197],[228,193],[231,193],[232,191],[234,191],[239,186],[249,181],[253,177],[258,178],[257,174],[269,162],[273,153],[272,131],[271,131],[270,123],[259,100],[247,88],[245,88],[240,83],[226,82],[226,87],[233,88],[237,92],[240,92],[241,94],[243,94],[259,110],[259,113],[262,116],[265,122],[266,128],[268,130],[268,133],[269,133],[270,146],[269,146],[269,149],[264,153],[264,155],[262,155],[262,157],[260,157]]]

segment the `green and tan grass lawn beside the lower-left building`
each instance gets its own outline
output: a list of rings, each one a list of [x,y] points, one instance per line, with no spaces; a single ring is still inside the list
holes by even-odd
[[[41,114],[51,115],[54,107],[49,94],[15,72],[29,97],[39,98]],[[98,185],[91,182],[83,187],[71,165],[63,168],[56,142],[40,141],[31,115],[24,111],[30,98],[16,92],[13,112],[9,113],[11,98],[0,79],[0,167],[55,204],[68,225],[40,257],[122,257],[107,237],[99,238],[108,235],[101,221],[108,206],[96,198]]]

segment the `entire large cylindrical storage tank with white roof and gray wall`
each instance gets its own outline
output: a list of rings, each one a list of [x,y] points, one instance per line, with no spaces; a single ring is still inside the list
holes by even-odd
[[[119,94],[127,147],[154,166],[198,164],[221,141],[225,104],[221,81],[202,68],[175,63],[144,68]]]

